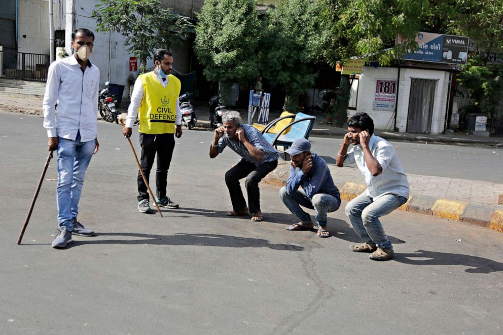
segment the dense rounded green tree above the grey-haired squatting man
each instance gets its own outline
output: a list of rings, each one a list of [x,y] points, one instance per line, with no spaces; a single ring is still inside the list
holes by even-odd
[[[262,31],[256,0],[206,0],[197,14],[194,50],[209,81],[221,81],[221,99],[229,101],[233,82],[259,74],[256,56]]]

